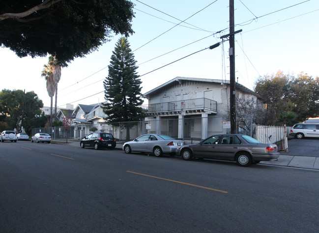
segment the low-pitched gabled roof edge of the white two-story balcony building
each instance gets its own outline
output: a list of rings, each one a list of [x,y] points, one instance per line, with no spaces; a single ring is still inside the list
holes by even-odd
[[[166,82],[165,84],[162,84],[161,86],[158,86],[158,87],[146,92],[145,94],[143,94],[143,96],[146,97],[149,94],[160,91],[162,88],[165,88],[174,82],[178,82],[179,84],[183,84],[185,81],[195,81],[195,82],[203,82],[203,83],[211,83],[211,84],[215,83],[215,84],[220,84],[220,85],[229,85],[230,84],[229,80],[223,81],[223,80],[219,80],[219,79],[176,77],[176,78]],[[254,93],[251,89],[244,87],[243,85],[241,85],[239,83],[235,83],[235,87],[238,88],[239,90],[241,90],[242,92],[245,92],[245,93]]]

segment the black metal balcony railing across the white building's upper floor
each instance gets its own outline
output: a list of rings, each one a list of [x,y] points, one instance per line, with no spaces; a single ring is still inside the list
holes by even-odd
[[[210,110],[217,111],[217,102],[215,100],[198,98],[187,99],[165,103],[156,103],[143,106],[145,113],[164,113],[178,112],[182,110],[182,103],[186,111]]]

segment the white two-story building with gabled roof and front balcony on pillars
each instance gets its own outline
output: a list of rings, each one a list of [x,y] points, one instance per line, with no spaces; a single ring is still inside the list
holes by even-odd
[[[257,97],[238,83],[237,97]],[[167,134],[178,139],[204,139],[230,133],[229,81],[176,77],[145,94],[145,122],[148,133]]]

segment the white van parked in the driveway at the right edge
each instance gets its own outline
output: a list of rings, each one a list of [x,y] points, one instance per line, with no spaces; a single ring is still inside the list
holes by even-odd
[[[319,124],[316,123],[300,123],[294,124],[290,129],[290,136],[298,139],[304,137],[319,138]]]

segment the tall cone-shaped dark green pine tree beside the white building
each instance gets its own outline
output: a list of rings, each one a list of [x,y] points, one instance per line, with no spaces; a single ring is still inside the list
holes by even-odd
[[[108,115],[108,123],[122,122],[126,128],[126,141],[130,140],[132,121],[140,120],[143,104],[140,85],[142,81],[136,70],[136,60],[125,37],[117,43],[109,65],[109,75],[105,78],[103,112]]]

